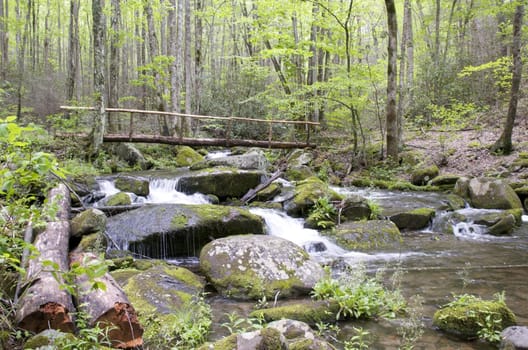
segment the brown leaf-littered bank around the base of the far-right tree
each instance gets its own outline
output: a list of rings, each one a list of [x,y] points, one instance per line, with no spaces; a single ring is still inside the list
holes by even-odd
[[[528,179],[528,168],[515,165],[520,153],[528,153],[528,116],[517,117],[513,129],[514,151],[496,155],[489,148],[502,133],[503,123],[483,122],[460,131],[418,131],[406,135],[410,150],[422,151],[440,168],[440,174]]]

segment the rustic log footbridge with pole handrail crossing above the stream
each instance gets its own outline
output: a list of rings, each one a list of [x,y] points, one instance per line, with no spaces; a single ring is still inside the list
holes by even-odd
[[[67,113],[95,111],[94,107],[61,106],[60,108]],[[160,143],[169,145],[222,147],[245,146],[279,149],[315,148],[316,145],[315,143],[310,141],[310,136],[313,129],[320,126],[320,123],[312,121],[220,117],[127,108],[105,108],[105,112],[108,116],[108,125],[117,125],[117,129],[119,130],[119,132],[109,132],[110,128],[105,127],[105,133],[103,135],[104,142],[138,142]],[[124,122],[123,116],[125,117]],[[169,123],[173,125],[175,125],[178,120],[181,121],[185,119],[189,121],[189,125],[193,125],[193,129],[196,129],[194,126],[199,125],[201,123],[221,125],[221,135],[215,138],[188,137],[184,135],[184,132],[182,130],[177,130],[178,128],[171,128],[174,131],[173,135],[163,135],[163,133],[161,132],[161,130],[163,129],[161,124],[163,123],[163,121],[167,123],[167,119],[169,119]],[[254,125],[254,127],[261,127],[264,124],[265,128],[263,128],[263,130],[267,130],[267,132],[263,132],[262,139],[258,140],[237,138],[234,135],[233,129],[241,123],[252,124]],[[145,125],[149,127],[145,127]],[[302,131],[304,139],[291,141],[274,140],[274,136],[275,138],[278,137],[276,135],[277,132],[274,133],[274,127],[291,128],[292,131]],[[56,134],[58,136],[75,137],[88,137],[89,135],[89,133]],[[294,135],[297,133],[289,132],[288,134],[294,137]]]

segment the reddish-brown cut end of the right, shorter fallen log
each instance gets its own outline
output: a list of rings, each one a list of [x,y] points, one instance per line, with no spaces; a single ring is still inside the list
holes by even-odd
[[[119,349],[137,348],[143,345],[143,327],[139,323],[136,310],[128,303],[116,302],[96,321],[99,327],[108,330],[112,346]]]

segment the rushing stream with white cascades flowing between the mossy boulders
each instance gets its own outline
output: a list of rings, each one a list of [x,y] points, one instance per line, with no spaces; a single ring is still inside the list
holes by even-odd
[[[115,190],[110,181],[100,181],[105,193]],[[177,179],[151,181],[147,198],[133,198],[136,203],[207,203],[201,194],[185,195],[175,190]],[[449,337],[432,327],[432,317],[440,305],[453,300],[453,294],[475,294],[482,298],[493,298],[496,293],[505,293],[506,303],[517,316],[519,325],[528,324],[528,217],[509,236],[496,237],[482,232],[481,227],[471,222],[457,223],[455,234],[444,233],[441,227],[449,220],[448,213],[441,211],[446,198],[443,194],[428,192],[397,192],[375,189],[336,188],[341,194],[359,194],[375,201],[382,215],[396,211],[431,207],[437,208],[432,225],[422,231],[402,232],[403,240],[385,249],[346,251],[321,236],[317,230],[303,227],[302,219],[287,216],[272,209],[251,208],[266,222],[267,233],[293,241],[307,250],[316,260],[342,269],[343,266],[362,264],[367,271],[375,273],[386,270],[390,277],[401,275],[400,289],[409,299],[419,296],[422,310],[419,318],[425,325],[423,336],[414,349],[493,349],[482,342],[461,341]],[[466,214],[476,209],[462,209]],[[442,222],[444,220],[444,222]],[[190,261],[190,262],[189,262]],[[181,261],[174,261],[181,263]],[[185,259],[185,264],[196,264],[197,259]],[[212,338],[227,335],[220,324],[227,322],[227,314],[236,311],[247,315],[255,303],[228,300],[219,296],[209,298],[213,308],[214,323]],[[271,304],[271,303],[270,303]],[[339,338],[354,335],[354,327],[369,332],[368,343],[372,349],[398,349],[401,337],[398,320],[348,321],[340,323]],[[339,348],[339,346],[338,346]]]

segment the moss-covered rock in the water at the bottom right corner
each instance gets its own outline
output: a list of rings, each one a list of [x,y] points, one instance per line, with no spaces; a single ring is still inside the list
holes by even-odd
[[[433,325],[463,339],[478,338],[479,331],[487,323],[500,332],[515,325],[515,315],[502,301],[462,296],[437,310],[433,317]]]

